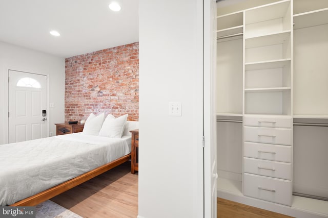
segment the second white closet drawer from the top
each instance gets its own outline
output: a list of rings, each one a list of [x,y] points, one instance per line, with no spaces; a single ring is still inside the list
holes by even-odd
[[[244,127],[244,141],[292,144],[292,129]]]

